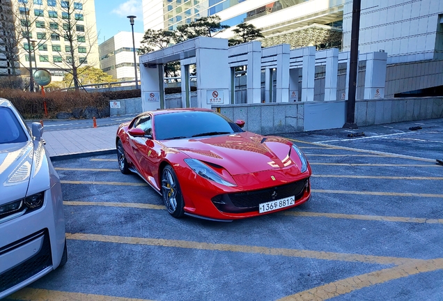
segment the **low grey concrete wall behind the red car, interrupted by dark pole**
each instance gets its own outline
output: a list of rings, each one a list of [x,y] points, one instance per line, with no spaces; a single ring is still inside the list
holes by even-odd
[[[220,113],[231,120],[242,119],[244,130],[258,134],[282,134],[341,128],[345,123],[346,101],[288,102],[220,105]],[[443,118],[443,97],[357,100],[357,125]]]

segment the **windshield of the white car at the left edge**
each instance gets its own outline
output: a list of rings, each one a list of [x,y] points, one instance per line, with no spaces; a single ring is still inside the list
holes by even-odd
[[[22,125],[13,111],[7,107],[0,107],[0,144],[25,142],[28,140]]]

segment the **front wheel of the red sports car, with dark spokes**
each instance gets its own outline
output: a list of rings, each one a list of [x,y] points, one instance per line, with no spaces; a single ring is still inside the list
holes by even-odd
[[[180,218],[185,214],[185,201],[180,184],[170,165],[166,165],[162,171],[162,198],[170,215]]]

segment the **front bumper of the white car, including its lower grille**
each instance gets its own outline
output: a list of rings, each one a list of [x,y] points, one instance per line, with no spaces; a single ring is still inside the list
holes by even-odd
[[[65,244],[61,185],[39,210],[0,224],[0,299],[59,266]]]

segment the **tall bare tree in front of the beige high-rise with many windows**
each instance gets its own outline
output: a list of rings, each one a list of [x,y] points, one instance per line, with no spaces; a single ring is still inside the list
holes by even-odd
[[[61,16],[58,17],[61,17],[61,22],[48,28],[51,40],[60,38],[65,40],[65,49],[53,47],[52,51],[59,54],[59,61],[54,60],[52,64],[65,69],[66,72],[72,75],[72,82],[76,91],[81,86],[79,68],[88,64],[88,56],[93,52],[94,45],[97,44],[98,40],[97,33],[93,30],[95,24],[91,25],[84,22],[84,3],[86,2],[59,1]]]

